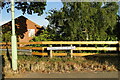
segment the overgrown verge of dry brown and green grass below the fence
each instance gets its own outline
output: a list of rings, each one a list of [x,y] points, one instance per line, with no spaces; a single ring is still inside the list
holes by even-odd
[[[4,56],[5,66],[3,71],[5,76],[11,76],[15,74],[21,74],[25,72],[71,72],[71,71],[118,71],[117,61],[113,58],[111,63],[107,59],[100,61],[99,57],[92,57],[93,60],[89,57],[38,57],[38,56],[18,56],[18,70],[12,71],[11,64],[8,61],[7,56]],[[114,58],[115,59],[115,58]],[[116,58],[117,60],[117,58]]]

